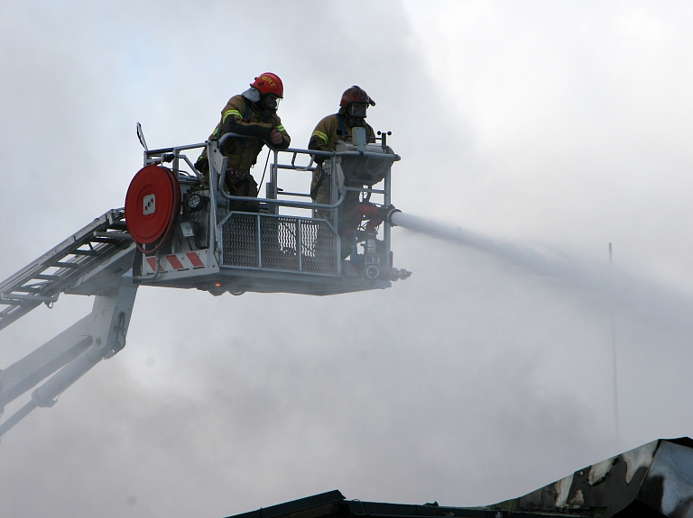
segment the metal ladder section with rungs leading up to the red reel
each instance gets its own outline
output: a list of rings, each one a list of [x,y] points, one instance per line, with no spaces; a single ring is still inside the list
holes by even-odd
[[[41,304],[53,304],[71,283],[132,245],[125,211],[111,209],[0,284],[0,330]]]

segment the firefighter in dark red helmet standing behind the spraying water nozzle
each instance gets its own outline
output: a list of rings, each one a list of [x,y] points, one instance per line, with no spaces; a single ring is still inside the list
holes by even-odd
[[[375,102],[365,93],[360,86],[351,86],[342,94],[339,101],[339,111],[337,114],[328,115],[322,119],[310,135],[308,143],[309,150],[334,151],[338,141],[351,142],[351,129],[355,127],[365,128],[369,142],[374,142],[375,132],[373,128],[365,122],[366,111],[369,106],[374,106]],[[318,167],[313,173],[313,180],[310,184],[310,197],[319,204],[330,203],[330,184],[322,171],[324,159],[316,157]],[[353,231],[353,224],[356,214],[354,209],[358,204],[358,193],[349,191],[339,212],[340,229],[339,233],[343,236]],[[327,214],[318,213],[319,217],[326,217]],[[345,253],[348,247],[345,248]]]

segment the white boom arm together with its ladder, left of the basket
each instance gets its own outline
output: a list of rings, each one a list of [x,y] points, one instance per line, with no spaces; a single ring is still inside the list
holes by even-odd
[[[134,243],[122,219],[123,211],[108,211],[0,285],[0,304],[6,306],[0,329],[41,304],[53,304],[61,292],[96,295],[90,314],[0,371],[0,412],[53,375],[0,424],[0,436],[37,406],[55,404],[101,359],[125,347],[137,286],[129,273]]]

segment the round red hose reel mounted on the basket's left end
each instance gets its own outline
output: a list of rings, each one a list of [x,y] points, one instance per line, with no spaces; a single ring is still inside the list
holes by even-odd
[[[144,254],[159,250],[168,240],[180,214],[180,185],[171,169],[141,168],[125,196],[125,223]]]

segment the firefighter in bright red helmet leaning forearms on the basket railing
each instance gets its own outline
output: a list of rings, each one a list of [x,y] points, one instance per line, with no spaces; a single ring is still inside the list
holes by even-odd
[[[282,79],[265,72],[255,77],[243,94],[231,97],[221,111],[221,122],[209,139],[221,138],[225,133],[251,137],[235,137],[222,144],[221,152],[228,158],[225,186],[229,195],[256,197],[258,186],[250,169],[263,146],[279,150],[289,147],[291,137],[277,115],[283,96]],[[202,152],[195,167],[208,177],[207,150]],[[255,207],[257,203],[232,202],[230,206],[231,210],[254,210]]]

